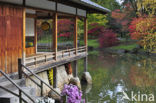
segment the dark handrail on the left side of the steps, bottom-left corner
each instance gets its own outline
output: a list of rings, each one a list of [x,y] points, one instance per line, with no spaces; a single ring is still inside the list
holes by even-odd
[[[9,92],[9,93],[11,93],[11,94],[13,94],[13,95],[15,95],[15,96],[19,96],[19,101],[20,101],[20,103],[22,103],[22,101],[26,102],[26,100],[24,100],[24,99],[22,98],[22,93],[23,93],[26,97],[28,97],[33,103],[35,103],[35,101],[34,101],[25,91],[23,91],[22,88],[19,87],[10,77],[8,77],[2,70],[0,70],[0,73],[1,73],[6,79],[8,79],[8,80],[19,90],[19,95],[13,93],[12,91],[10,91],[10,90],[8,90],[8,89],[2,87],[2,86],[0,86],[0,88],[4,89],[5,91],[7,91],[7,92]],[[26,103],[28,103],[28,102],[26,102]]]

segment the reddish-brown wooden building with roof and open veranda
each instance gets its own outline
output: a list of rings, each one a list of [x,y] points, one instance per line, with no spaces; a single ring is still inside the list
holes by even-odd
[[[52,59],[59,61],[58,56],[69,53],[77,57],[83,49],[87,55],[87,13],[107,13],[105,9],[90,0],[0,0],[0,69],[10,74],[18,71],[18,58],[25,65]],[[53,52],[37,53],[36,20],[38,18],[53,19]],[[57,50],[58,18],[75,20],[74,48]],[[77,46],[77,20],[84,18],[84,47]],[[34,36],[34,47],[26,48],[26,37]],[[30,54],[39,54],[30,56]],[[62,59],[62,58],[61,58]]]

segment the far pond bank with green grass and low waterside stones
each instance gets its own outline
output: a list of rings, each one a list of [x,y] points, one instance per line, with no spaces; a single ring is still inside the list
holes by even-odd
[[[118,45],[112,47],[103,47],[100,48],[99,46],[88,46],[88,50],[90,51],[89,54],[96,54],[97,51],[105,51],[106,53],[112,54],[140,54],[140,55],[148,55],[148,56],[156,56],[156,53],[150,53],[144,50],[141,46],[139,46],[136,41],[127,41],[127,42],[120,42]]]

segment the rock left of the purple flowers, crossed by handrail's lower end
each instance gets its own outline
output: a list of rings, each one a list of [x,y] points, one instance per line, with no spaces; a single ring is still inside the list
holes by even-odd
[[[55,90],[57,93],[61,94],[61,90],[60,90],[59,88],[54,88],[54,90]],[[52,90],[48,93],[48,97],[53,98],[53,99],[55,99],[55,100],[60,100],[60,99],[61,99],[61,97],[58,96],[58,95],[57,95],[54,91],[52,91]]]

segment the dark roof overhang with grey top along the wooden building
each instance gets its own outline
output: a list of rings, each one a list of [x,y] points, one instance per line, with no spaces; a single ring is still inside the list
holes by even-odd
[[[87,13],[111,12],[91,0],[0,0],[0,3],[17,4],[24,7],[44,9],[86,17]]]

